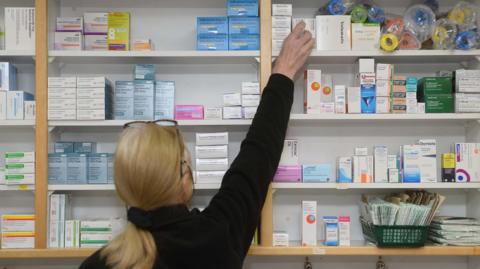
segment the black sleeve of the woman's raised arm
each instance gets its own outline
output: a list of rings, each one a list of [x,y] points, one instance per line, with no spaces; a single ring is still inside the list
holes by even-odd
[[[251,245],[268,186],[280,161],[293,88],[293,81],[284,75],[270,77],[240,153],[202,213],[228,225],[228,240],[242,257]]]

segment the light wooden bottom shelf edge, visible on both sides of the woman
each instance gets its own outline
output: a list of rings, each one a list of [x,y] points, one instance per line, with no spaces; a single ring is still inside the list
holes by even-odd
[[[96,249],[0,250],[0,259],[84,259]],[[413,249],[361,247],[261,247],[252,246],[249,256],[480,256],[479,247],[427,246]]]

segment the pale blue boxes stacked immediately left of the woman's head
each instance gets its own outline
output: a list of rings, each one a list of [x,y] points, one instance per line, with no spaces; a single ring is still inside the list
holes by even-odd
[[[93,142],[56,142],[48,154],[49,184],[112,184],[113,155]]]

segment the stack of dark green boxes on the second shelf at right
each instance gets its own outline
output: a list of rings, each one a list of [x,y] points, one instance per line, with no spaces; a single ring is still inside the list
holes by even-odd
[[[419,81],[418,100],[426,113],[454,113],[452,77],[426,77]]]

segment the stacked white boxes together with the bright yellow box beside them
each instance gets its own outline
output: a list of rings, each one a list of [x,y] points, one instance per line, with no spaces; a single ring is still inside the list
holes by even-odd
[[[107,35],[107,33],[110,33]],[[58,17],[55,31],[56,50],[130,49],[130,13],[96,12],[83,17]]]

